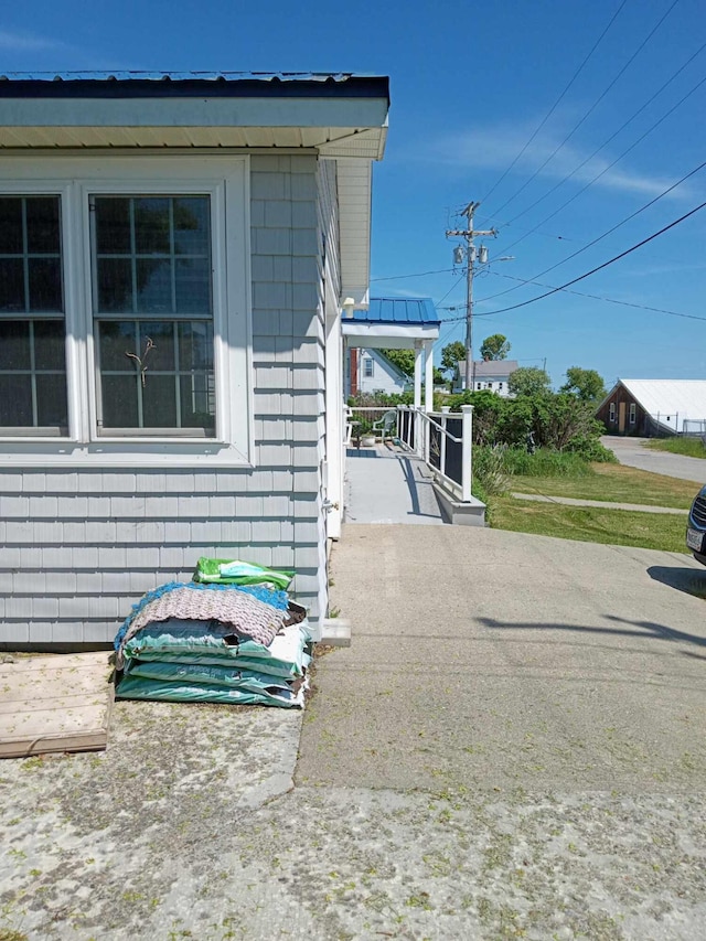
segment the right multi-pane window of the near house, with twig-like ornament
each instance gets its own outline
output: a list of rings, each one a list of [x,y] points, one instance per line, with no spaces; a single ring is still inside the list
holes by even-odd
[[[90,201],[104,432],[215,434],[207,196]]]

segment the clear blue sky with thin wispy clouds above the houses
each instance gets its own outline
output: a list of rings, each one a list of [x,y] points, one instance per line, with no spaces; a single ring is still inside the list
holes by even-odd
[[[0,72],[389,75],[373,293],[434,298],[441,345],[462,339],[466,282],[445,231],[481,201],[477,226],[500,231],[491,258],[514,260],[475,278],[474,338],[504,333],[557,385],[571,365],[609,385],[706,378],[706,208],[571,288],[621,303],[560,291],[495,313],[547,290],[524,281],[564,285],[706,201],[706,168],[661,195],[706,160],[705,44],[703,0],[26,0],[0,17]]]

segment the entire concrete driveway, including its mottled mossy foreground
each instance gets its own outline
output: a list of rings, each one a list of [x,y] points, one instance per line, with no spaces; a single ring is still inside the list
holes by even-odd
[[[0,938],[704,938],[706,569],[356,525],[332,577],[303,724],[122,702],[0,763]]]

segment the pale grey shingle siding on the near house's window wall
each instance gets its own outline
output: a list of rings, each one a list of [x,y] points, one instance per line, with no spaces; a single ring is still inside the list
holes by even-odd
[[[201,555],[297,570],[325,601],[321,233],[313,156],[253,157],[255,469],[0,470],[0,644],[97,644]]]

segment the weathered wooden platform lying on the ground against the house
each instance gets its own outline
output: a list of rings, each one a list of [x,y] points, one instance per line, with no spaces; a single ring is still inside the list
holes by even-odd
[[[105,651],[0,663],[0,758],[104,749],[111,703]]]

